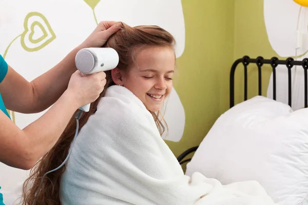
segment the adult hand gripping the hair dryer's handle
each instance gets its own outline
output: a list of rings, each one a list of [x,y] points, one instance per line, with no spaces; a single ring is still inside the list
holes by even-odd
[[[68,83],[65,92],[73,97],[78,108],[93,103],[104,90],[106,74],[104,72],[82,76],[79,70],[75,71]]]

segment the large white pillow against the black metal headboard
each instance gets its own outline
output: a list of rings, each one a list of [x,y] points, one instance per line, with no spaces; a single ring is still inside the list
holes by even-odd
[[[256,96],[222,114],[187,164],[223,184],[256,180],[279,205],[308,205],[308,109]]]

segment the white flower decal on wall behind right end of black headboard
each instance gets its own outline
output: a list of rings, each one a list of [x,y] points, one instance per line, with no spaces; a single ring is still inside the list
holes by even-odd
[[[278,58],[308,57],[308,8],[292,0],[264,0],[266,32]],[[287,68],[277,67],[277,100],[288,104]],[[300,66],[292,68],[292,108],[304,107],[304,75]],[[269,81],[267,96],[273,97],[273,76]]]

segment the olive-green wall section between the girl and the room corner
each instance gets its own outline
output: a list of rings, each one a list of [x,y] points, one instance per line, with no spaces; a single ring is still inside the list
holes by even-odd
[[[176,156],[200,144],[229,105],[229,69],[234,59],[234,0],[182,1],[185,50],[174,86],[185,109],[184,135],[166,141]]]

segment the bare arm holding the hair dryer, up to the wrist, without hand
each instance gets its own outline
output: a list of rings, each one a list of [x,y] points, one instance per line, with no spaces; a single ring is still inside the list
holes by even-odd
[[[63,96],[40,118],[23,130],[0,112],[0,161],[8,166],[31,169],[50,150],[77,109],[72,96]]]

